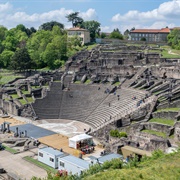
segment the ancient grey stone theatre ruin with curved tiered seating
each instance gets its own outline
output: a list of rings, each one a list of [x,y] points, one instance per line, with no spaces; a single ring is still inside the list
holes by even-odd
[[[123,145],[166,150],[180,140],[179,64],[151,50],[124,44],[83,50],[64,71],[32,74],[1,87],[0,110],[36,121],[87,123],[88,133],[110,151]],[[112,129],[127,137],[109,136]]]

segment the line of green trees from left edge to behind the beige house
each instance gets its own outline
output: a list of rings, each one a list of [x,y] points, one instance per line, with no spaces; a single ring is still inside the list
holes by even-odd
[[[89,30],[93,42],[95,38],[105,38],[100,33],[100,23],[84,21],[78,12],[66,16],[72,27]],[[127,35],[126,31],[126,35]],[[119,29],[114,29],[109,38],[123,39]],[[49,67],[56,69],[65,64],[68,57],[81,49],[78,37],[67,38],[67,31],[62,23],[51,21],[39,26],[27,28],[23,24],[7,29],[0,26],[0,67],[13,70],[39,69]]]

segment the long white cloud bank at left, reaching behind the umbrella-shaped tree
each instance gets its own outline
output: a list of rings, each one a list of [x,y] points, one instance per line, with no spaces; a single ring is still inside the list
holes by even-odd
[[[44,13],[27,14],[22,10],[16,10],[10,3],[0,4],[0,25],[7,28],[16,27],[18,24],[24,24],[26,27],[38,28],[42,23],[49,21],[58,21],[65,25],[66,28],[71,27],[71,23],[67,21],[66,15],[74,12],[72,9],[57,9]],[[84,20],[97,19],[95,9],[88,9],[86,12],[80,12],[80,16]]]

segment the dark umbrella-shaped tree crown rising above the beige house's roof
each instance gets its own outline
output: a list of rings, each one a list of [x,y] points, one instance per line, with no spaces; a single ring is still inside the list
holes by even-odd
[[[81,25],[84,21],[81,17],[79,17],[79,12],[68,14],[66,18],[68,19],[68,22],[72,22],[73,27]]]

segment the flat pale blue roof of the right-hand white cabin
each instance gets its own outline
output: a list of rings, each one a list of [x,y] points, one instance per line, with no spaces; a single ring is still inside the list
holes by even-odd
[[[88,169],[90,165],[89,162],[71,155],[61,157],[59,160],[62,160],[63,162],[69,162],[84,169]]]

